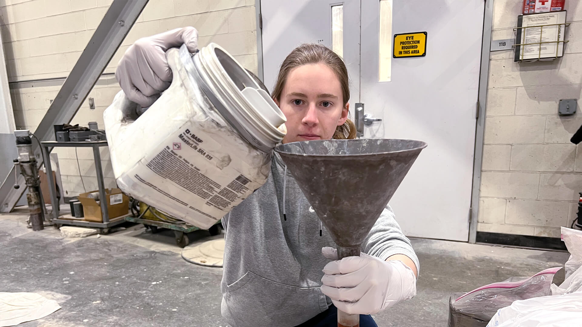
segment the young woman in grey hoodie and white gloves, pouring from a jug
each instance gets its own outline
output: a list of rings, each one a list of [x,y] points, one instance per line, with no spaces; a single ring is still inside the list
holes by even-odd
[[[127,97],[142,106],[155,101],[172,79],[165,51],[182,44],[196,51],[193,27],[127,49],[116,71]],[[347,119],[346,66],[322,45],[300,45],[285,58],[272,97],[287,118],[283,143],[356,136]],[[361,314],[360,326],[377,326],[370,314],[416,294],[418,258],[392,209],[386,206],[360,257],[338,261],[331,237],[325,230],[320,236],[317,215],[276,154],[267,182],[222,222],[221,311],[232,326],[336,326],[337,308]]]

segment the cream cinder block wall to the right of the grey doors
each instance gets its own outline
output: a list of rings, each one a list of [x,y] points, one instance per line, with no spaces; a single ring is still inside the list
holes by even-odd
[[[515,37],[522,4],[495,0],[492,40]],[[560,237],[576,217],[582,150],[570,137],[582,113],[559,116],[558,101],[581,99],[582,3],[567,1],[566,9],[563,58],[516,63],[511,50],[491,52],[480,232]]]

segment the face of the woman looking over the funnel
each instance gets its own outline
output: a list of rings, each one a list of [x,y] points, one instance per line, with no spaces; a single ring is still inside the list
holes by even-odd
[[[336,127],[347,119],[349,104],[343,106],[342,86],[331,68],[323,63],[292,69],[276,101],[287,118],[283,143],[329,140]]]

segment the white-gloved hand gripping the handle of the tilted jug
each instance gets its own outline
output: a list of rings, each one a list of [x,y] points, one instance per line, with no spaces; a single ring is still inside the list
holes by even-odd
[[[169,48],[186,44],[188,51],[198,49],[198,31],[187,26],[144,37],[127,48],[115,71],[123,93],[143,107],[150,106],[172,81],[166,60]]]

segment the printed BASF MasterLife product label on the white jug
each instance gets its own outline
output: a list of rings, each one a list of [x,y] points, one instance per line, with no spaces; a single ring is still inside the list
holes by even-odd
[[[239,160],[236,151],[231,158],[225,153],[228,149],[229,144],[219,144],[187,123],[141,161],[154,175],[134,177],[179,205],[221,219],[260,185],[239,171],[240,162],[233,162]]]

